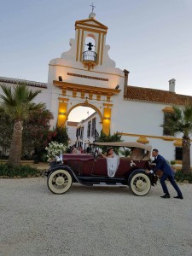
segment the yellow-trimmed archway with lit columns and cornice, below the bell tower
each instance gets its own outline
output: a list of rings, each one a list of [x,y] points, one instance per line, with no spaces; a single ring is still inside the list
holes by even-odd
[[[66,125],[68,115],[73,108],[79,106],[90,107],[95,109],[96,113],[98,113],[101,119],[102,131],[106,135],[109,135],[113,108],[111,97],[119,94],[120,90],[72,84],[62,81],[54,81],[54,84],[56,87],[59,87],[62,92],[61,97],[58,98],[58,126]],[[77,103],[77,100],[79,103]]]

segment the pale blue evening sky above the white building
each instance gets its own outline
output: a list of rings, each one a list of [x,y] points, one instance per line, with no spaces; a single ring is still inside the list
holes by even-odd
[[[92,3],[130,85],[168,90],[176,79],[176,92],[192,96],[192,0],[0,0],[0,76],[46,83]]]

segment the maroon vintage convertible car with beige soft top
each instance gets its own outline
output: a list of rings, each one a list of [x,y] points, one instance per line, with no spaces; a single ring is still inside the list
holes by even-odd
[[[93,143],[90,147],[91,154],[63,154],[62,161],[50,164],[44,174],[51,192],[64,194],[73,183],[80,183],[86,186],[128,186],[135,195],[147,195],[151,185],[156,183],[158,177],[145,172],[150,168],[150,145],[123,142]],[[103,147],[118,148],[119,152],[130,153],[126,157],[121,154],[114,177],[108,177],[107,159],[98,154]],[[134,155],[136,148],[139,154]]]

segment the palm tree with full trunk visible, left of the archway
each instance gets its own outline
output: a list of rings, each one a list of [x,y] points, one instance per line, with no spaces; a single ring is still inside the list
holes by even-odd
[[[1,107],[5,113],[14,120],[14,131],[9,151],[9,165],[20,166],[23,121],[28,119],[30,113],[44,108],[44,103],[34,103],[32,100],[41,90],[30,90],[26,84],[17,84],[14,88],[0,85],[3,94],[0,95]]]

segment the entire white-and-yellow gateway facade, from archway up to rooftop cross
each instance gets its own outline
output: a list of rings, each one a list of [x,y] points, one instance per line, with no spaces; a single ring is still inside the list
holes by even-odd
[[[92,5],[88,19],[75,22],[75,38],[69,40],[71,48],[61,58],[49,61],[50,110],[61,126],[73,108],[93,108],[102,131],[108,135],[114,121],[113,105],[119,104],[125,74],[108,55],[108,26],[95,19],[93,9]]]

